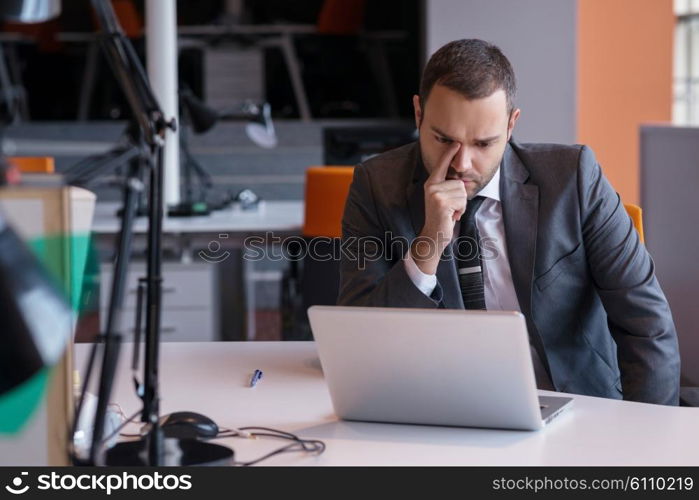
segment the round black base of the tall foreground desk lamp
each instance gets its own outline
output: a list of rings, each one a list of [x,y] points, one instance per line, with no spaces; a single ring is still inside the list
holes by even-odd
[[[197,439],[163,438],[164,466],[224,466],[233,465],[234,452],[227,446]],[[107,450],[107,465],[150,465],[146,439],[118,443]]]

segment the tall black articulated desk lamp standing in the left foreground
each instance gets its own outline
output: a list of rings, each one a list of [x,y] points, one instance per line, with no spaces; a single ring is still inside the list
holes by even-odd
[[[130,162],[129,180],[123,194],[123,214],[118,237],[117,257],[110,291],[109,310],[101,342],[95,343],[90,353],[83,383],[83,390],[76,410],[74,427],[79,421],[84,396],[94,370],[97,350],[101,351],[101,370],[97,408],[92,432],[92,443],[87,457],[80,457],[71,450],[76,465],[191,465],[200,463],[230,462],[233,451],[225,446],[193,439],[166,438],[160,426],[159,343],[160,313],[162,302],[162,223],[163,223],[163,145],[168,129],[174,129],[174,120],[163,114],[148,82],[143,66],[129,39],[107,0],[91,0],[99,26],[100,41],[114,76],[124,92],[131,108],[139,134],[138,155]],[[143,189],[140,179],[148,178],[148,246],[145,283],[145,349],[143,381],[134,380],[137,394],[143,402],[141,420],[146,424],[143,439],[118,443],[104,450],[103,432],[107,403],[116,373],[121,344],[120,317],[123,304],[126,273],[131,253],[131,237],[136,212],[136,198]],[[139,300],[138,307],[143,304]],[[139,316],[137,316],[137,320]],[[137,324],[136,339],[140,332]],[[138,340],[134,349],[140,349]]]

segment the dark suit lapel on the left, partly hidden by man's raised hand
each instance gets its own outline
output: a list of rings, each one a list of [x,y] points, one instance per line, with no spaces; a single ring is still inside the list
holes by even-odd
[[[422,164],[422,156],[420,153],[419,143],[416,143],[414,149],[414,168],[413,176],[406,190],[408,209],[410,211],[410,219],[415,231],[415,236],[420,234],[422,226],[425,225],[425,191],[424,184],[427,180],[427,170]],[[450,247],[445,250],[445,255],[442,256],[437,265],[437,281],[442,286],[443,303],[447,309],[463,309],[464,300],[461,297],[461,289],[459,288],[459,279],[456,273],[456,263],[454,261],[453,252]]]

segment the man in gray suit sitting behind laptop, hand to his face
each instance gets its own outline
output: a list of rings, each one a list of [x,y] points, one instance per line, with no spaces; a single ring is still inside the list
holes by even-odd
[[[539,388],[677,405],[672,315],[619,195],[588,147],[514,142],[514,94],[491,44],[430,58],[419,141],[355,168],[338,304],[521,311]]]

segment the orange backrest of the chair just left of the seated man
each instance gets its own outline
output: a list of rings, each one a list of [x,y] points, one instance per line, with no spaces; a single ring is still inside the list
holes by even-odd
[[[303,236],[342,236],[342,213],[354,167],[310,167],[306,170]]]

